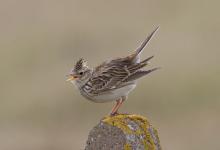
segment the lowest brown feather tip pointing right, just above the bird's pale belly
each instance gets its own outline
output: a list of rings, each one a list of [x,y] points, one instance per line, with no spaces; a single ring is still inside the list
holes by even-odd
[[[153,69],[150,69],[150,70],[139,70],[133,74],[131,74],[128,78],[126,78],[124,81],[125,82],[129,82],[129,81],[133,81],[133,80],[137,80],[138,78],[141,78],[155,70],[158,70],[159,68],[153,68]]]

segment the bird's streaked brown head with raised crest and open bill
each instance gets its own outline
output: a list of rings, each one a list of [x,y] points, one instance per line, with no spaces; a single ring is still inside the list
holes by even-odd
[[[70,73],[67,75],[67,81],[79,81],[83,82],[91,75],[91,69],[87,66],[86,61],[83,58],[80,58]]]

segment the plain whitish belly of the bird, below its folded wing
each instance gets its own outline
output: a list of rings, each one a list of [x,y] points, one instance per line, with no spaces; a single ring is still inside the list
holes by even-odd
[[[92,98],[90,98],[90,100],[96,103],[115,101],[121,98],[122,96],[127,96],[135,88],[135,86],[136,86],[135,84],[130,84],[128,86],[124,86],[119,89],[106,92],[104,94],[93,96]]]

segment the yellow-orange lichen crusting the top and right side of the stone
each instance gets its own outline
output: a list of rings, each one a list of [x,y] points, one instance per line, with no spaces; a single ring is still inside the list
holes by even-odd
[[[158,138],[157,131],[150,125],[145,117],[140,115],[118,114],[115,116],[107,116],[102,122],[121,129],[126,135],[142,137],[140,142],[144,145],[144,149],[156,150],[157,143],[155,143],[149,129],[153,130],[153,134],[155,134],[156,138]],[[131,122],[133,122],[135,127],[131,126]],[[130,150],[130,143],[126,143],[124,149]]]

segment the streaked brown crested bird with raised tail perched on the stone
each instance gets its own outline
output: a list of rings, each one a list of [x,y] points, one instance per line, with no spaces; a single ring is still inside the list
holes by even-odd
[[[81,95],[92,102],[115,101],[110,115],[118,114],[118,110],[127,99],[128,94],[136,87],[137,80],[159,69],[159,67],[143,69],[154,56],[144,60],[140,59],[141,52],[158,29],[159,26],[146,37],[134,52],[126,57],[104,61],[94,68],[90,68],[87,62],[80,58],[67,75],[67,81],[73,83]]]

